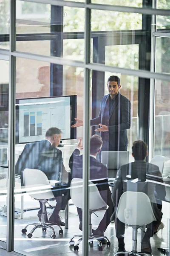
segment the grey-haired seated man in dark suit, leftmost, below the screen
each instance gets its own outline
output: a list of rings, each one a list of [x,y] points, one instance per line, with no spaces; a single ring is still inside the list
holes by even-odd
[[[20,154],[15,165],[15,174],[21,175],[26,168],[39,169],[47,175],[48,180],[59,180],[62,183],[68,184],[68,172],[62,163],[62,152],[57,148],[61,140],[62,131],[56,127],[51,127],[46,131],[45,140],[36,143],[27,144]],[[34,179],[34,177],[32,177]],[[21,180],[22,182],[22,180]],[[53,189],[52,189],[53,190]],[[65,193],[69,193],[66,190]],[[59,211],[62,206],[62,192],[61,190],[53,190],[54,197],[57,201],[56,207],[49,219],[50,223],[56,223],[60,226],[65,226],[59,217]],[[65,202],[65,206],[66,206]],[[38,217],[41,221],[42,204],[40,203],[40,210]],[[46,222],[48,218],[46,216]]]

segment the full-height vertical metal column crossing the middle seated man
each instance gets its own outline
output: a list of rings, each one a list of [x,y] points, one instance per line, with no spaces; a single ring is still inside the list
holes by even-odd
[[[86,0],[88,4],[90,0]],[[91,39],[91,10],[85,8],[85,64],[90,62],[90,39]],[[84,99],[83,99],[83,255],[88,256],[88,221],[89,221],[89,204],[88,204],[88,180],[90,167],[90,70],[85,68],[84,77]]]

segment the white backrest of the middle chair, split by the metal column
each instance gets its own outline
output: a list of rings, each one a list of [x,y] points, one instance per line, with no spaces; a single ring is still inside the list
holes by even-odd
[[[71,199],[73,204],[80,209],[83,209],[83,180],[80,178],[74,178],[71,180]],[[105,201],[103,201],[99,190],[96,185],[89,181],[89,209],[96,210],[106,206]]]

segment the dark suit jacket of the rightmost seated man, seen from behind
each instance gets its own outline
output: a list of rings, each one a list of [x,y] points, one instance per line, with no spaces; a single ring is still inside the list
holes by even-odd
[[[150,177],[147,178],[147,174],[150,175]],[[148,179],[163,183],[161,173],[159,172],[159,167],[151,163],[147,163],[144,160],[137,160],[133,163],[121,166],[116,174],[116,180],[112,192],[112,201],[115,210],[113,212],[113,215],[111,216],[111,220],[115,218],[116,209],[122,193],[128,190],[126,181],[136,178],[138,178],[142,182]],[[159,200],[164,199],[166,195],[164,186],[160,185],[159,183],[149,183],[149,186],[147,185],[147,195],[150,198],[151,204],[154,208],[153,212],[155,215],[159,214],[159,212],[157,212],[155,195]]]

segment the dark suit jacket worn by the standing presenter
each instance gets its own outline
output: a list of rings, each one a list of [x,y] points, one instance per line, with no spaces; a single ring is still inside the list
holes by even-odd
[[[128,144],[127,129],[131,125],[130,100],[118,93],[109,114],[109,94],[102,97],[98,117],[91,120],[91,126],[108,126],[108,132],[101,132],[102,140],[109,141],[112,146],[125,146]]]

